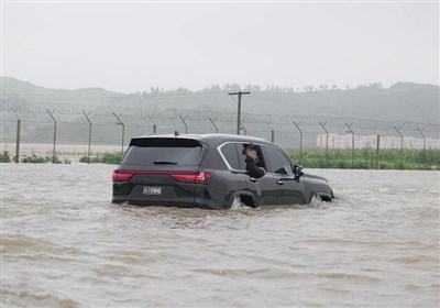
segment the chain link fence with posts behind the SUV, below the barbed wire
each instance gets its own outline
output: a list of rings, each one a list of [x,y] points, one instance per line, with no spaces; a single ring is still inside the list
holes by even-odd
[[[87,108],[80,105],[2,101],[2,151],[16,160],[40,155],[94,155],[127,148],[132,136],[150,133],[237,132],[237,113],[142,108]],[[241,134],[263,138],[285,150],[440,148],[432,123],[375,121],[337,117],[242,113]]]

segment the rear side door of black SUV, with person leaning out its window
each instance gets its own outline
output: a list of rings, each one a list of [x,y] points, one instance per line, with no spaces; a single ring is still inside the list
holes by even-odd
[[[238,143],[238,150],[239,150],[239,163],[240,163],[240,168],[245,169],[246,168],[246,153],[245,148],[249,145],[249,143]],[[254,144],[256,145],[256,144]],[[260,145],[258,146],[258,158],[261,165],[266,169],[264,157],[262,155],[262,148]],[[251,190],[254,196],[256,196],[260,200],[260,206],[270,206],[270,205],[277,205],[277,190],[276,190],[276,179],[272,174],[265,174],[264,176],[260,178],[252,178],[248,176],[248,189]]]

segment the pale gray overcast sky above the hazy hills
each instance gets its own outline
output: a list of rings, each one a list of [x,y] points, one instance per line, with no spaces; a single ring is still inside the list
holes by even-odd
[[[2,3],[2,76],[132,92],[439,85],[438,2]]]

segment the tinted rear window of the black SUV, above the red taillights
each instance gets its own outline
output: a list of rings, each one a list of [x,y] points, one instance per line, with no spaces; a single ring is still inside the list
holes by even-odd
[[[122,161],[124,165],[197,166],[200,164],[201,144],[183,139],[134,139]]]

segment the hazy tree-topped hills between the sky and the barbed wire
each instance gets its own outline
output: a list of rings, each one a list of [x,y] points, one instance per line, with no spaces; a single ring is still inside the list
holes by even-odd
[[[148,92],[119,94],[103,88],[81,88],[75,90],[51,89],[12,77],[2,78],[4,101],[20,103],[85,105],[130,107],[146,110],[212,110],[234,112],[237,105],[228,96],[229,90],[238,90],[235,84],[210,86],[199,91],[184,88]],[[304,91],[271,87],[261,89],[246,86],[251,95],[243,98],[243,112],[283,116],[327,116],[353,117],[382,121],[410,121],[440,123],[440,87],[416,82],[396,82],[389,88],[380,84],[339,89],[322,86]]]

